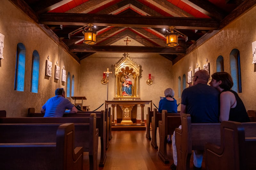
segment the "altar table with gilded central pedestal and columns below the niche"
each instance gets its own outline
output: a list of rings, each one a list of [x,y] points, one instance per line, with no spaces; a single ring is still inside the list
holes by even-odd
[[[145,125],[144,122],[144,107],[145,104],[150,104],[152,110],[152,100],[144,101],[144,100],[114,100],[114,101],[105,101],[106,108],[108,104],[111,104],[112,107],[112,125],[115,125],[115,107],[120,106],[120,109],[116,109],[117,115],[122,115],[121,124],[132,124],[132,113],[134,107],[136,107],[136,116],[137,116],[137,104],[140,104],[141,108],[141,121],[140,125]]]

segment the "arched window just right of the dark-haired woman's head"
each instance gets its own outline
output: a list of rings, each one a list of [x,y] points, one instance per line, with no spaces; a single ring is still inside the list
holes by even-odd
[[[237,49],[233,49],[230,52],[230,70],[234,82],[232,90],[242,93],[240,52]]]

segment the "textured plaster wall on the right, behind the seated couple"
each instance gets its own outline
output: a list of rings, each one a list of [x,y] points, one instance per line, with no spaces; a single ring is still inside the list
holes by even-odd
[[[256,7],[253,7],[177,62],[173,66],[175,92],[178,92],[178,77],[180,76],[182,79],[183,74],[186,74],[187,77],[188,71],[190,71],[189,66],[191,66],[193,76],[197,67],[196,63],[198,62],[200,69],[203,69],[206,58],[210,63],[210,74],[216,72],[216,60],[220,55],[224,59],[224,71],[231,73],[233,68],[230,68],[230,52],[233,49],[238,49],[240,51],[242,77],[242,93],[238,93],[238,95],[243,100],[246,110],[256,110],[256,95],[253,91],[256,84],[256,72],[255,64],[252,64],[252,42],[256,41],[255,16]]]

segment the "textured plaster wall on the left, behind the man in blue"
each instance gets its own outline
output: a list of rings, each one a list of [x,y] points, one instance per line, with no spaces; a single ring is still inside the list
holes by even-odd
[[[0,110],[6,110],[7,117],[25,117],[29,107],[35,107],[40,112],[48,98],[55,96],[56,88],[67,90],[67,83],[54,79],[54,67],[58,60],[60,69],[75,76],[75,94],[78,93],[79,63],[59,47],[52,38],[34,23],[27,15],[18,10],[8,0],[2,0],[0,5],[0,33],[4,37],[4,59],[0,60]],[[16,65],[17,44],[26,47],[24,91],[14,90],[14,75]],[[38,93],[30,92],[32,54],[37,50],[40,56]],[[52,77],[45,76],[45,61],[49,56],[52,62]]]

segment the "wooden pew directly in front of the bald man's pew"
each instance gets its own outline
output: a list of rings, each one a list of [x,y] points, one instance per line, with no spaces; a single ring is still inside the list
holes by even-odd
[[[166,110],[162,111],[162,119],[158,123],[159,131],[159,151],[158,156],[165,164],[169,163],[167,157],[167,135],[173,134],[175,128],[181,125],[180,113],[167,113]]]

